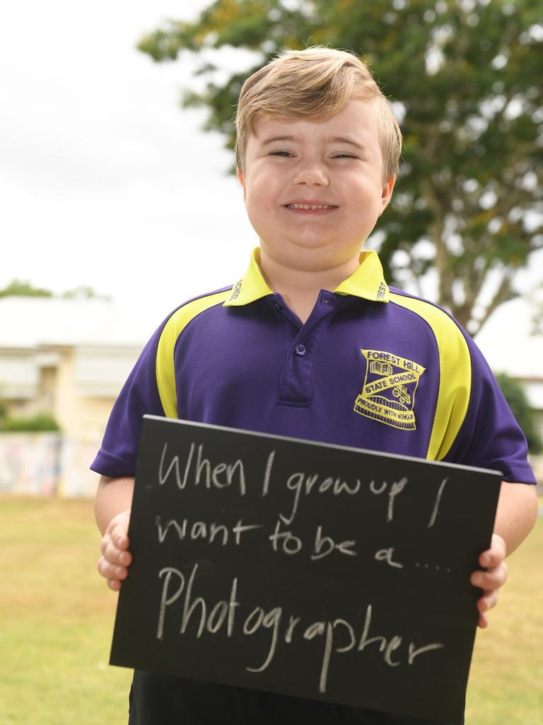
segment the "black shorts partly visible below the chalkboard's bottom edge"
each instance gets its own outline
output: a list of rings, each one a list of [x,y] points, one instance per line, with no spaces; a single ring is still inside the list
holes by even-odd
[[[129,725],[444,725],[136,670]],[[455,723],[450,725],[462,725]]]

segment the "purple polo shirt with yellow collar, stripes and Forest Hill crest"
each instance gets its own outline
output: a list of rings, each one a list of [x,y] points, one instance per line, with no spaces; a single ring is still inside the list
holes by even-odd
[[[535,483],[526,439],[458,323],[390,289],[375,252],[305,324],[264,281],[186,302],[143,349],[91,468],[133,476],[145,413],[446,460]]]

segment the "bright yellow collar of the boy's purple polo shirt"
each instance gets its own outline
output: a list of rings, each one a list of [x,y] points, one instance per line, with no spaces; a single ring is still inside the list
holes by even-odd
[[[248,270],[232,287],[232,294],[224,302],[224,307],[248,305],[256,299],[274,294],[262,276],[259,262],[260,249],[256,247],[251,252]],[[389,289],[384,281],[383,268],[377,253],[373,250],[361,252],[360,266],[333,291],[337,294],[351,294],[354,297],[370,299],[371,302],[388,302]]]

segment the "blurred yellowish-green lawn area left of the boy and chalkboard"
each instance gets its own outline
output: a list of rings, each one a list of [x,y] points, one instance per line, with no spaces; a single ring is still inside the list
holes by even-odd
[[[88,500],[0,498],[1,725],[126,724],[99,541]]]

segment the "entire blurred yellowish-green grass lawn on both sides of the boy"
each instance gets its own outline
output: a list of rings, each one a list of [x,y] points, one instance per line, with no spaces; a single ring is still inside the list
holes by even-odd
[[[131,674],[107,664],[117,595],[96,571],[99,539],[88,500],[0,497],[0,725],[126,724]],[[539,519],[477,635],[466,725],[542,721],[542,544]]]

